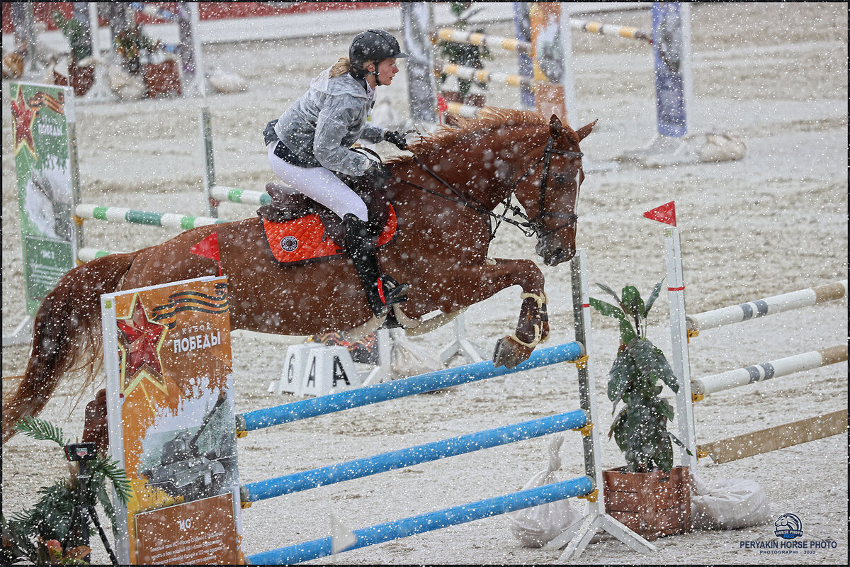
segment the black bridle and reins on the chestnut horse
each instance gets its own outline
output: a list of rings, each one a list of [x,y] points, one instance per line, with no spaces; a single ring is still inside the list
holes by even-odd
[[[408,132],[405,132],[405,134],[407,134],[407,133],[419,133],[419,132],[417,132],[416,130],[409,130]],[[419,134],[420,134],[420,136],[422,136],[421,133],[419,133]],[[504,205],[504,207],[505,207],[505,210],[502,211],[501,215],[497,215],[496,213],[493,213],[492,210],[490,210],[490,207],[487,207],[481,201],[479,201],[479,200],[477,200],[477,199],[475,199],[471,196],[467,196],[467,194],[462,193],[461,191],[456,190],[456,188],[452,184],[450,184],[445,179],[441,178],[438,173],[433,171],[433,169],[428,167],[426,164],[420,162],[419,158],[416,157],[416,155],[413,156],[413,161],[416,162],[416,164],[419,167],[422,168],[422,171],[428,173],[431,177],[433,177],[433,179],[436,179],[437,181],[439,181],[440,184],[445,185],[445,187],[447,187],[452,192],[452,194],[455,195],[456,198],[453,198],[451,196],[447,196],[443,193],[439,193],[438,191],[430,190],[427,187],[422,187],[422,185],[411,183],[410,181],[407,181],[406,179],[399,179],[399,178],[395,178],[395,179],[398,179],[401,183],[410,185],[411,187],[415,187],[418,190],[423,190],[423,191],[430,193],[434,196],[439,196],[439,197],[442,197],[444,199],[448,199],[449,201],[453,201],[453,202],[462,204],[464,207],[472,208],[476,213],[479,213],[486,220],[487,229],[490,231],[490,241],[492,241],[494,238],[496,238],[496,230],[498,230],[499,225],[501,224],[502,221],[504,221],[508,224],[513,224],[514,226],[519,227],[519,230],[522,230],[523,234],[526,235],[526,236],[536,235],[538,239],[541,239],[541,238],[544,238],[548,235],[552,235],[555,232],[558,232],[558,230],[561,230],[561,229],[564,229],[568,226],[571,226],[578,221],[578,216],[575,215],[575,213],[549,213],[545,210],[545,207],[546,207],[546,190],[547,190],[547,185],[549,183],[549,170],[550,170],[550,167],[552,165],[552,156],[553,155],[567,156],[567,157],[574,157],[574,158],[584,156],[584,154],[581,153],[581,151],[570,151],[570,150],[558,150],[558,149],[556,149],[555,148],[555,139],[553,138],[552,135],[550,135],[549,139],[547,139],[546,147],[543,150],[543,155],[540,156],[536,160],[536,162],[531,164],[531,166],[528,168],[528,170],[526,170],[525,173],[523,173],[521,176],[519,176],[519,178],[516,179],[513,182],[513,184],[511,184],[510,189],[507,191],[507,196],[505,197],[505,200],[501,202],[501,204]],[[539,194],[538,201],[537,201],[537,214],[534,216],[534,218],[530,218],[527,214],[523,213],[519,209],[519,207],[512,205],[510,201],[511,201],[511,196],[513,196],[516,193],[516,190],[517,190],[517,187],[519,187],[519,184],[523,181],[523,179],[528,177],[531,173],[534,173],[536,167],[538,165],[540,165],[541,162],[543,162],[543,172],[541,173],[540,181],[538,183],[538,187],[540,188],[540,194]],[[577,173],[576,173],[576,175],[577,175]],[[576,187],[575,187],[576,193],[578,192],[578,190],[579,190],[579,188],[578,188],[577,183],[576,183]],[[576,195],[576,197],[577,197],[577,195]],[[507,212],[508,211],[510,211],[512,213],[513,217],[522,218],[524,220],[524,222],[519,222],[519,221],[513,220],[513,218],[507,218]],[[496,218],[496,227],[493,227],[493,224],[492,224],[493,218]],[[543,222],[542,222],[544,218],[564,218],[564,223],[559,224],[554,229],[547,230],[546,227],[543,225]]]

